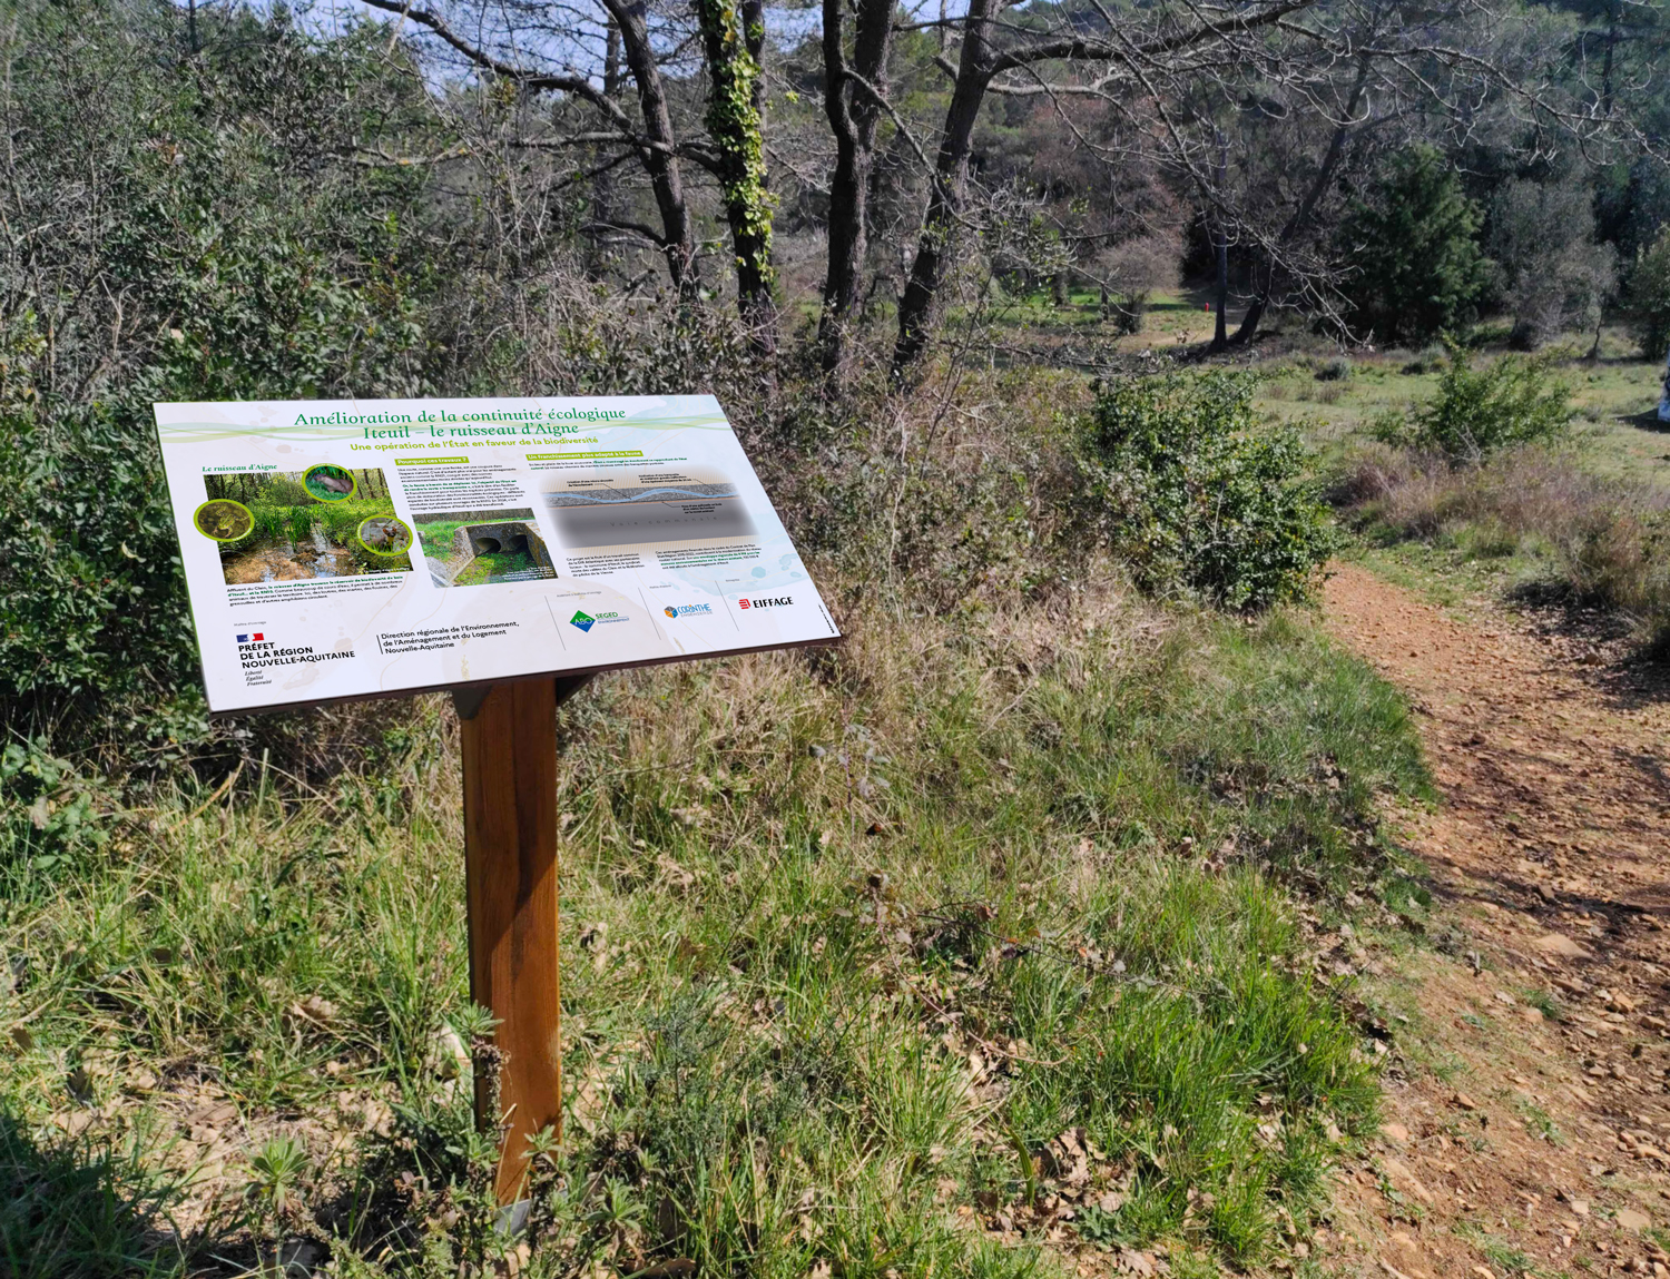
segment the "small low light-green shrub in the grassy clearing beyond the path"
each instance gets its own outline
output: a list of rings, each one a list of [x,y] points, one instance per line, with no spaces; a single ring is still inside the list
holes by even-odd
[[[1548,364],[1503,356],[1475,369],[1451,344],[1438,394],[1414,417],[1413,442],[1451,461],[1478,463],[1508,444],[1558,436],[1571,422],[1571,387]]]

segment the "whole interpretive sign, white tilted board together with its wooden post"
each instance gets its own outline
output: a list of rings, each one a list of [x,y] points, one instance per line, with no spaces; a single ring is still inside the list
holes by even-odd
[[[210,710],[453,690],[499,1050],[476,1120],[509,1206],[563,1125],[556,708],[595,671],[835,623],[711,396],[155,409]]]

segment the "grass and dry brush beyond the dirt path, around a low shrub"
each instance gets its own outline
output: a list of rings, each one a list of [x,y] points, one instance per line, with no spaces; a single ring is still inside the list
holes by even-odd
[[[1617,346],[1608,334],[1597,364],[1566,349],[1556,371],[1576,389],[1568,429],[1476,464],[1388,444],[1376,429],[1388,412],[1408,421],[1435,392],[1428,374],[1399,369],[1399,352],[1358,357],[1349,376],[1326,382],[1309,372],[1321,367],[1313,357],[1273,364],[1264,402],[1276,416],[1309,414],[1306,432],[1334,476],[1341,518],[1359,534],[1353,553],[1383,576],[1451,608],[1520,599],[1605,608],[1643,653],[1662,653],[1670,432],[1652,414],[1658,366],[1622,359]],[[1298,402],[1313,394],[1334,402],[1321,411]]]

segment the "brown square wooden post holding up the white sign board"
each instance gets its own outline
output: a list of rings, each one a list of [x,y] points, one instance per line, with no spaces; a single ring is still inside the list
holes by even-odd
[[[476,1069],[476,1124],[504,1129],[499,1204],[519,1197],[528,1137],[546,1127],[563,1134],[556,708],[590,678],[453,695],[464,738],[469,997],[498,1020],[503,1057],[498,1079],[491,1067]]]

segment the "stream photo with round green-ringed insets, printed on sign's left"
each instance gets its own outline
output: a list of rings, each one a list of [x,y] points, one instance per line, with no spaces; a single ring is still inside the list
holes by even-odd
[[[411,529],[394,514],[381,469],[204,476],[199,533],[220,543],[229,586],[256,581],[411,573]]]

